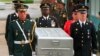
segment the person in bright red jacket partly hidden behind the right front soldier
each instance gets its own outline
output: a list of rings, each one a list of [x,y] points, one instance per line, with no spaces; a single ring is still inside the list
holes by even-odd
[[[71,24],[76,22],[78,20],[78,17],[77,17],[77,8],[76,6],[74,7],[73,11],[72,11],[72,19],[71,20],[67,20],[65,22],[65,25],[64,25],[64,31],[70,35],[70,27],[71,27]]]

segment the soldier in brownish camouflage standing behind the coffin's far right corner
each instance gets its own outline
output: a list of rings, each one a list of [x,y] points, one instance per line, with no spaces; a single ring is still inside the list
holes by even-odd
[[[57,18],[61,28],[64,27],[65,21],[67,20],[67,13],[65,10],[65,4],[62,2],[57,2],[52,8],[51,14]]]

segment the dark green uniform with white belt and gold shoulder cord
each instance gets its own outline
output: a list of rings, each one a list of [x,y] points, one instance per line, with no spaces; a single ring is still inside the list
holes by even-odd
[[[22,27],[28,42],[25,43],[26,39],[16,21]],[[10,49],[10,55],[32,56],[32,45],[35,45],[34,42],[32,42],[32,40],[34,41],[35,39],[32,37],[32,35],[34,35],[32,34],[35,29],[34,25],[34,22],[30,21],[29,19],[26,19],[24,22],[15,20],[9,24],[8,45]],[[32,45],[30,45],[30,43]]]

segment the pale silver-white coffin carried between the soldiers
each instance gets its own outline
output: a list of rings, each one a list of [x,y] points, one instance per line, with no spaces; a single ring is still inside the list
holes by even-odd
[[[73,39],[61,28],[36,28],[37,56],[73,56]]]

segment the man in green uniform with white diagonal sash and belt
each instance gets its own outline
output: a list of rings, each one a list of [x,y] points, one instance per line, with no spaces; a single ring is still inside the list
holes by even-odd
[[[27,19],[27,9],[21,5],[18,9],[18,19],[13,20],[8,26],[8,46],[10,55],[32,56],[35,45],[35,22]]]

